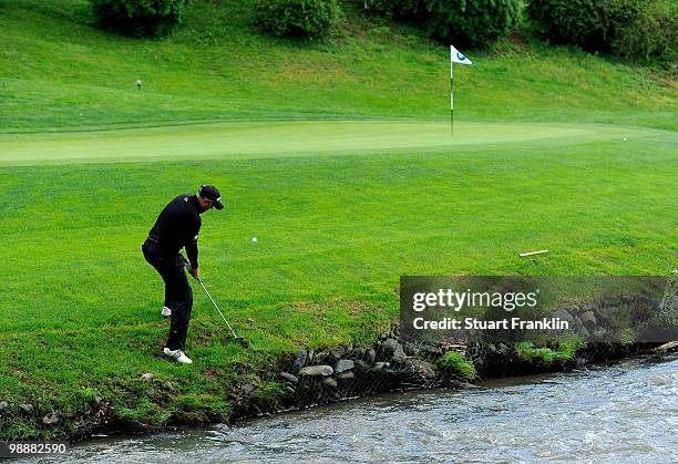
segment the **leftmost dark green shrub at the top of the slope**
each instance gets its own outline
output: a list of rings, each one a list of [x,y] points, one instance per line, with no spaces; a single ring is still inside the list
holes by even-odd
[[[163,37],[182,22],[189,0],[91,0],[99,24],[133,37]]]

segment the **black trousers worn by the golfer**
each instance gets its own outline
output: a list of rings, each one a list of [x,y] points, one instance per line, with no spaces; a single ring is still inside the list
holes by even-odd
[[[166,348],[185,350],[188,321],[193,308],[193,289],[188,283],[179,254],[167,254],[157,244],[146,239],[142,245],[146,261],[155,268],[165,282],[165,306],[172,309],[170,337]]]

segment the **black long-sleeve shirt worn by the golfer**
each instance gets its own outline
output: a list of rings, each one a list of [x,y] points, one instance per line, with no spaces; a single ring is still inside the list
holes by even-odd
[[[197,237],[203,224],[201,204],[195,195],[179,195],[161,212],[148,237],[167,255],[186,248],[186,257],[195,269],[197,262]]]

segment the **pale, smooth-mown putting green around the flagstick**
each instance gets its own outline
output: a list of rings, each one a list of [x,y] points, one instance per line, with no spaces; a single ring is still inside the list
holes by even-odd
[[[239,122],[96,132],[0,135],[0,163],[96,163],[332,155],[516,143],[568,145],[604,140],[676,137],[675,133],[583,124],[374,121]]]

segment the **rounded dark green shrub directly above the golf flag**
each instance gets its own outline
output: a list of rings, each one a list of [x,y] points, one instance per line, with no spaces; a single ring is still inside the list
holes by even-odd
[[[508,34],[518,0],[425,0],[430,33],[454,45],[486,45]]]

